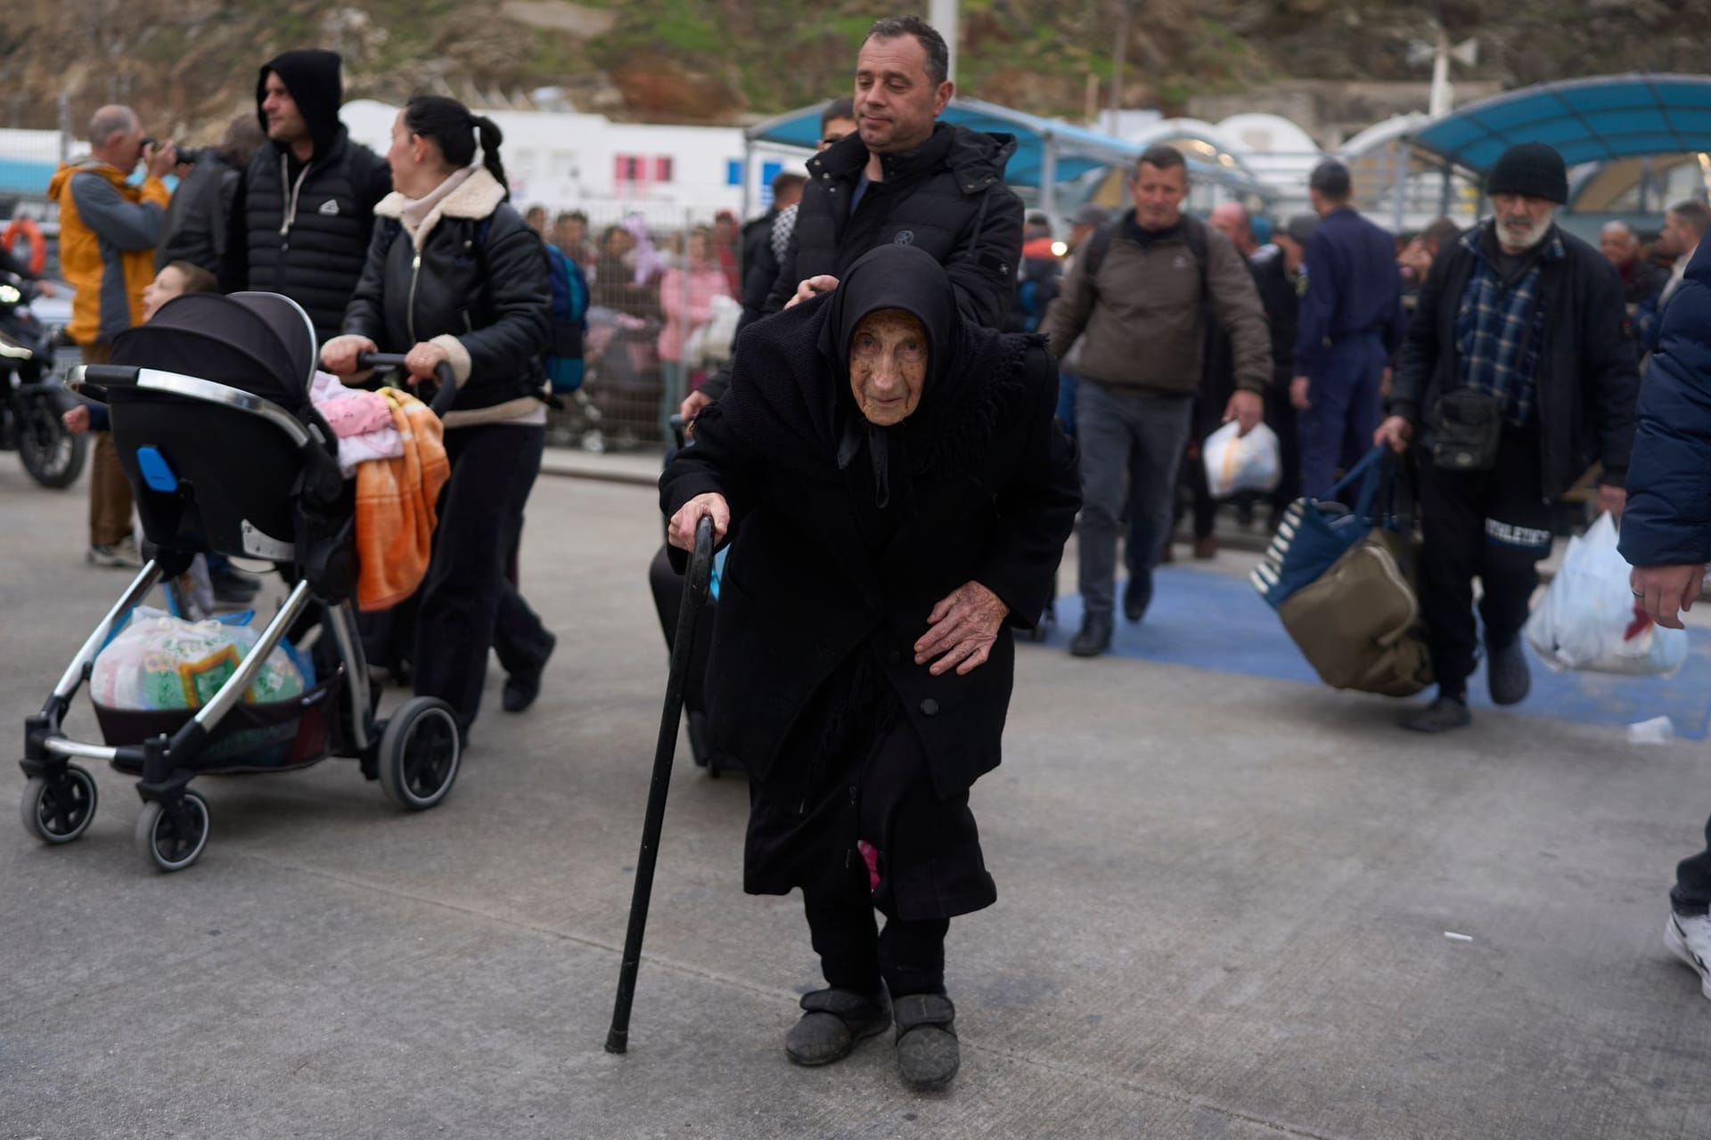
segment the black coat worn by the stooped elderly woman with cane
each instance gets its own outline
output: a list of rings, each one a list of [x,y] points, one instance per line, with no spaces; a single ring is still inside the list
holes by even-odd
[[[943,432],[956,441],[953,461],[898,492],[909,506],[871,554],[844,473],[804,472],[780,458],[789,444],[765,443],[768,431],[790,439],[816,431],[806,412],[780,412],[760,388],[761,378],[787,374],[814,352],[811,330],[830,301],[801,304],[739,337],[731,393],[702,414],[693,446],[660,477],[667,514],[703,492],[725,496],[732,511],[708,663],[708,735],[717,752],[765,779],[833,668],[871,651],[921,735],[934,788],[953,796],[999,762],[1015,644],[1001,631],[989,660],[965,677],[929,675],[914,663],[914,644],[932,605],[968,581],[996,593],[1023,627],[1051,600],[1081,499],[1075,448],[1054,419],[1057,364],[1039,338],[1004,337],[1011,364],[984,378],[980,397]]]

